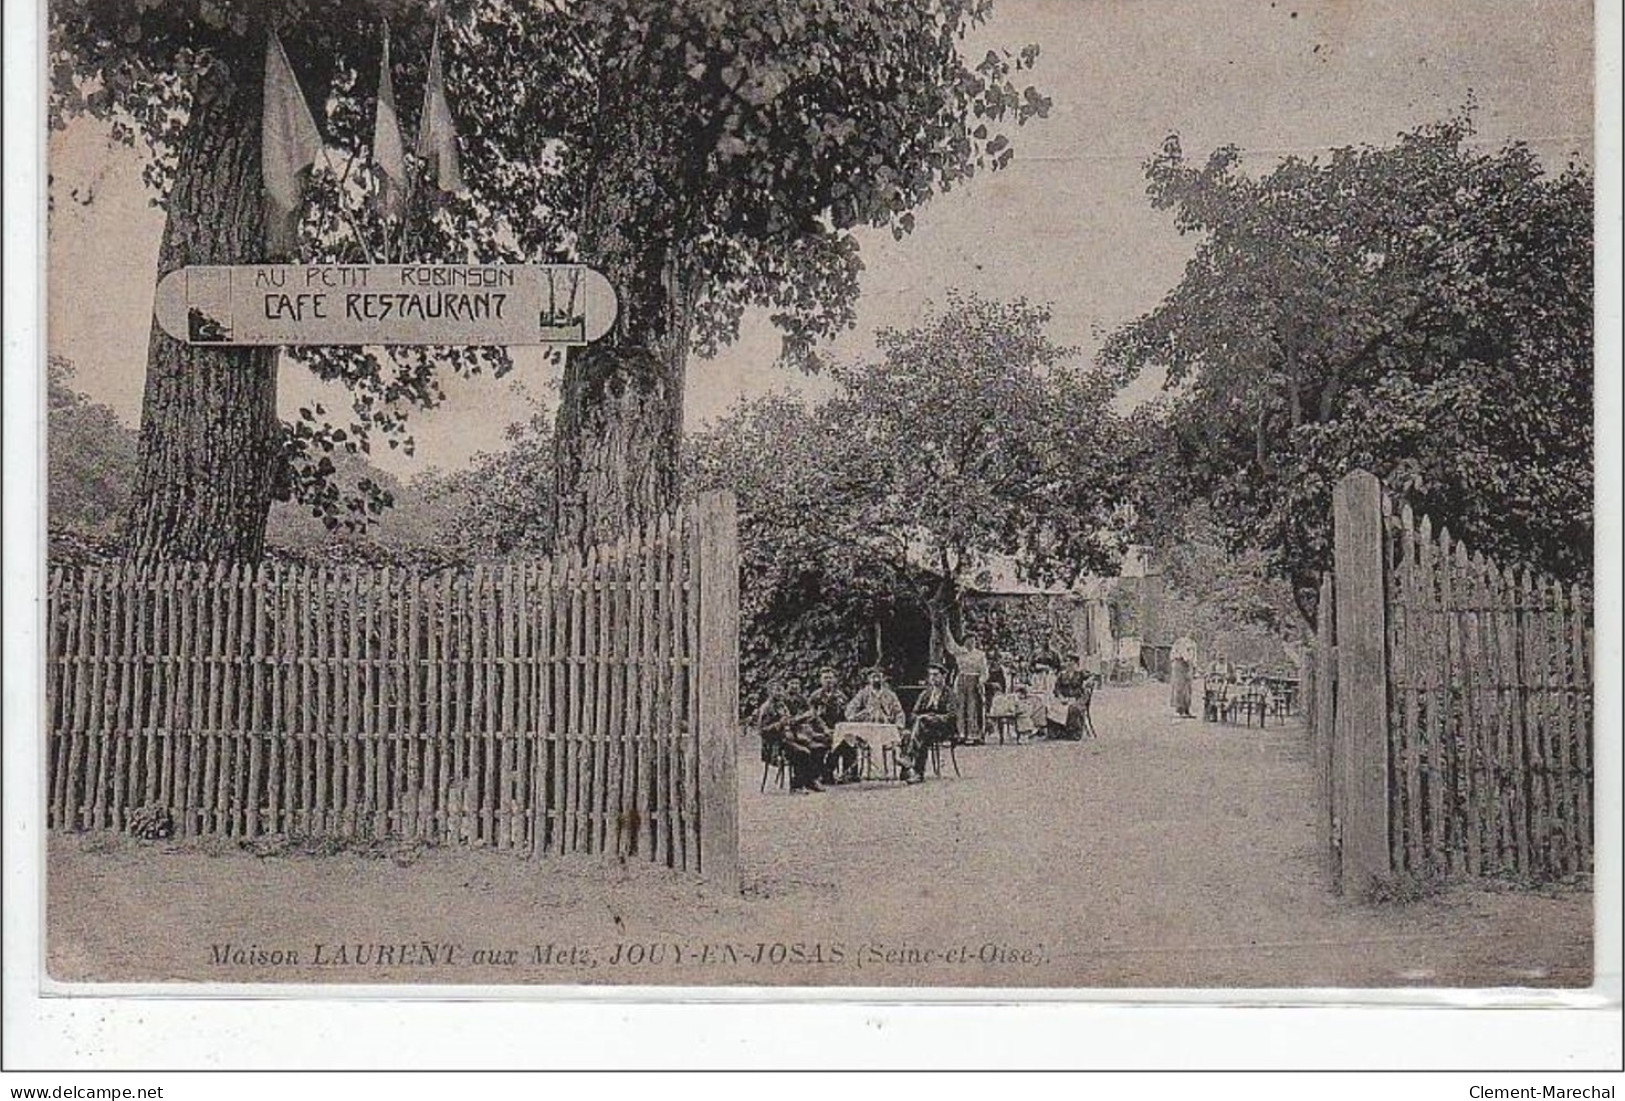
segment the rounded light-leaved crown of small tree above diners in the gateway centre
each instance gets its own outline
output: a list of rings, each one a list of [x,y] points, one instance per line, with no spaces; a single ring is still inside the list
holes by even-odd
[[[860,538],[957,598],[991,555],[1069,585],[1121,552],[1129,500],[1110,380],[1046,335],[1050,307],[951,294],[913,330],[878,336],[881,359],[838,367],[832,435],[871,492]]]

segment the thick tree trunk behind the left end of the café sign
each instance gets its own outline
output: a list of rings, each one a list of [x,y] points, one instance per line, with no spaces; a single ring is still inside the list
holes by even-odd
[[[187,265],[265,258],[260,86],[247,55],[198,76],[159,278]],[[257,560],[280,464],[276,349],[184,344],[154,322],[127,554],[138,562]]]

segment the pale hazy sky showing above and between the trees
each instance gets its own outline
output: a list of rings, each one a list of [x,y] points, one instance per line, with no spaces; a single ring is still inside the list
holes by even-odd
[[[1237,145],[1250,171],[1268,171],[1287,154],[1388,143],[1471,97],[1488,146],[1528,141],[1552,167],[1592,158],[1584,0],[996,0],[970,49],[1027,42],[1042,49],[1030,80],[1055,101],[1050,119],[1016,135],[1009,169],[921,208],[902,242],[863,235],[858,325],[829,354],[866,356],[878,328],[918,323],[952,287],[1050,302],[1051,335],[1092,354],[1178,283],[1191,253],[1146,200],[1142,164],[1168,133],[1186,156]],[[132,425],[162,231],[140,167],[94,123],[52,141],[47,341],[73,361],[75,385]],[[744,396],[817,395],[822,380],[775,367],[777,351],[772,326],[749,315],[738,343],[691,359],[689,427]],[[447,378],[445,403],[413,414],[416,455],[374,460],[410,476],[500,448],[509,422],[556,399],[557,369],[530,352],[515,361],[505,378]],[[284,414],[312,399],[341,395],[284,362]]]

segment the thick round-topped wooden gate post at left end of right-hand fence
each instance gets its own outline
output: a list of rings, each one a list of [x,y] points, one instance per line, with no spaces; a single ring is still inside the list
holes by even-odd
[[[1341,792],[1339,887],[1365,890],[1393,867],[1388,848],[1388,625],[1381,482],[1352,471],[1332,492],[1337,575],[1337,718],[1332,783]]]

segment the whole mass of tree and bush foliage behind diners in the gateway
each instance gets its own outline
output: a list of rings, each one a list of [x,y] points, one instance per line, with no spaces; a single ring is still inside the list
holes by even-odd
[[[694,484],[739,500],[748,667],[869,659],[876,622],[941,627],[996,555],[1032,580],[1110,568],[1121,422],[1046,322],[951,296],[881,333],[876,362],[834,367],[829,399],[746,403],[694,440]]]

